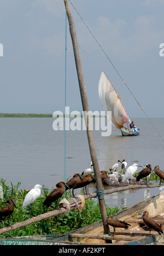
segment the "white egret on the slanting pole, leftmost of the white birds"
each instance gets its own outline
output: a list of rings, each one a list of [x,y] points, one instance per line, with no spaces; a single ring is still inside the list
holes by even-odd
[[[31,189],[28,194],[25,196],[24,203],[22,205],[22,208],[25,209],[27,206],[29,206],[29,211],[30,211],[30,218],[32,218],[32,204],[36,199],[42,195],[41,189],[46,189],[43,188],[41,185],[37,184],[34,186],[33,189]],[[49,189],[46,189],[49,190]]]

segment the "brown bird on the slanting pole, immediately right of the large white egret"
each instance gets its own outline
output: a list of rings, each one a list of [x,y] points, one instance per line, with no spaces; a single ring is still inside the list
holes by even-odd
[[[46,206],[46,208],[50,207],[52,202],[55,202],[57,208],[57,200],[65,193],[65,187],[69,189],[68,185],[65,182],[58,182],[56,184],[56,187],[57,188],[54,189],[43,202],[43,205]]]

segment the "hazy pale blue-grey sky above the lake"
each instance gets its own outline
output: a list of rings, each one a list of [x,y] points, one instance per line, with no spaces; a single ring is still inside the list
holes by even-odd
[[[164,56],[160,56],[160,45],[164,43],[164,0],[71,2],[147,115],[163,118]],[[71,10],[90,110],[103,110],[98,83],[104,71],[121,95],[128,115],[145,117],[72,4]],[[64,112],[64,1],[0,0],[0,31],[0,112]],[[82,113],[68,22],[66,66],[66,105],[71,112]]]

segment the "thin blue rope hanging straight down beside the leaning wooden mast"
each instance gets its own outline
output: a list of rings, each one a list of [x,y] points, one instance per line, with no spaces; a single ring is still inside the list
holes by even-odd
[[[66,56],[65,56],[65,183],[66,183],[66,104],[67,104],[67,0],[66,0]],[[66,197],[66,187],[65,187]]]

